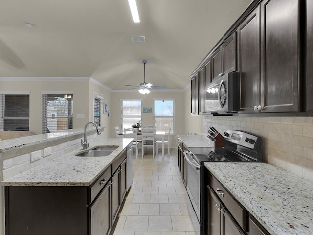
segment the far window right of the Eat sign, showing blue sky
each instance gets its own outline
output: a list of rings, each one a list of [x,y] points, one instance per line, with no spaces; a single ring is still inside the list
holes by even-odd
[[[155,126],[156,134],[158,132],[168,132],[169,127],[171,133],[174,133],[174,100],[155,100]]]

